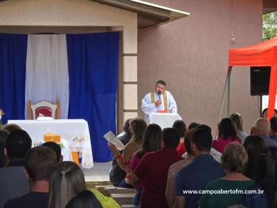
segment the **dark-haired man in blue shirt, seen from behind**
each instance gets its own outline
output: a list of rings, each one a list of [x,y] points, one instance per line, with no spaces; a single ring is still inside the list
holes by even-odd
[[[195,207],[201,194],[186,191],[204,190],[206,184],[226,175],[220,163],[210,155],[213,137],[205,129],[196,130],[193,134],[192,149],[195,155],[193,162],[181,168],[175,181],[176,207]]]

